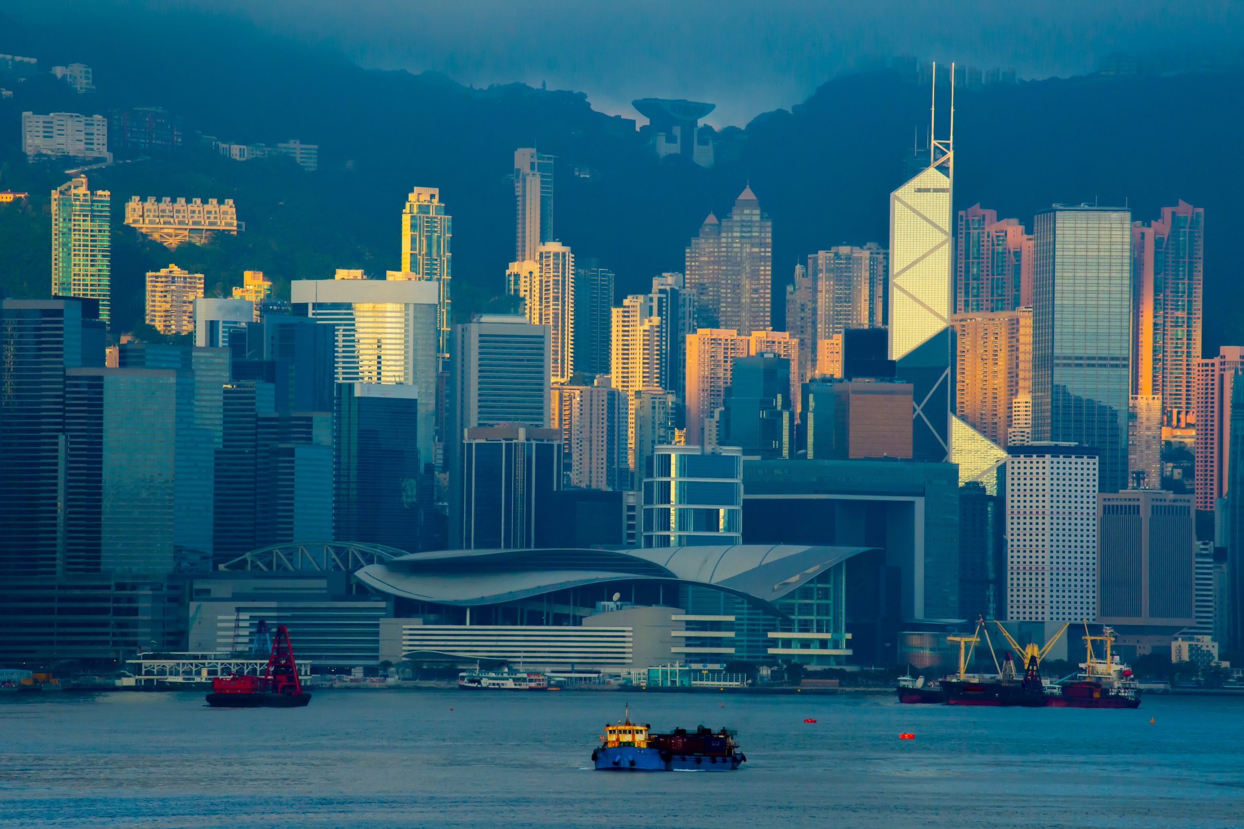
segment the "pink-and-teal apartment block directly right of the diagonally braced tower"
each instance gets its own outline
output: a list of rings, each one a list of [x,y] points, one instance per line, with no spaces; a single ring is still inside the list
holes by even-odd
[[[1015,219],[974,204],[959,211],[954,312],[1015,311],[1033,305],[1033,236]]]

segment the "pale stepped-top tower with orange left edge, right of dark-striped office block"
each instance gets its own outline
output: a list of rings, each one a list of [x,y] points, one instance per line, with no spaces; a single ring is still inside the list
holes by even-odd
[[[593,385],[552,387],[552,426],[562,434],[570,486],[631,488],[628,415],[627,398],[610,385],[608,374]]]

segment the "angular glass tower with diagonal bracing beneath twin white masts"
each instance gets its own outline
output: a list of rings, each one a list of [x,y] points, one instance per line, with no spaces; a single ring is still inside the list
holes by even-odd
[[[927,461],[950,456],[953,139],[889,195],[888,358],[912,384],[912,451]]]

